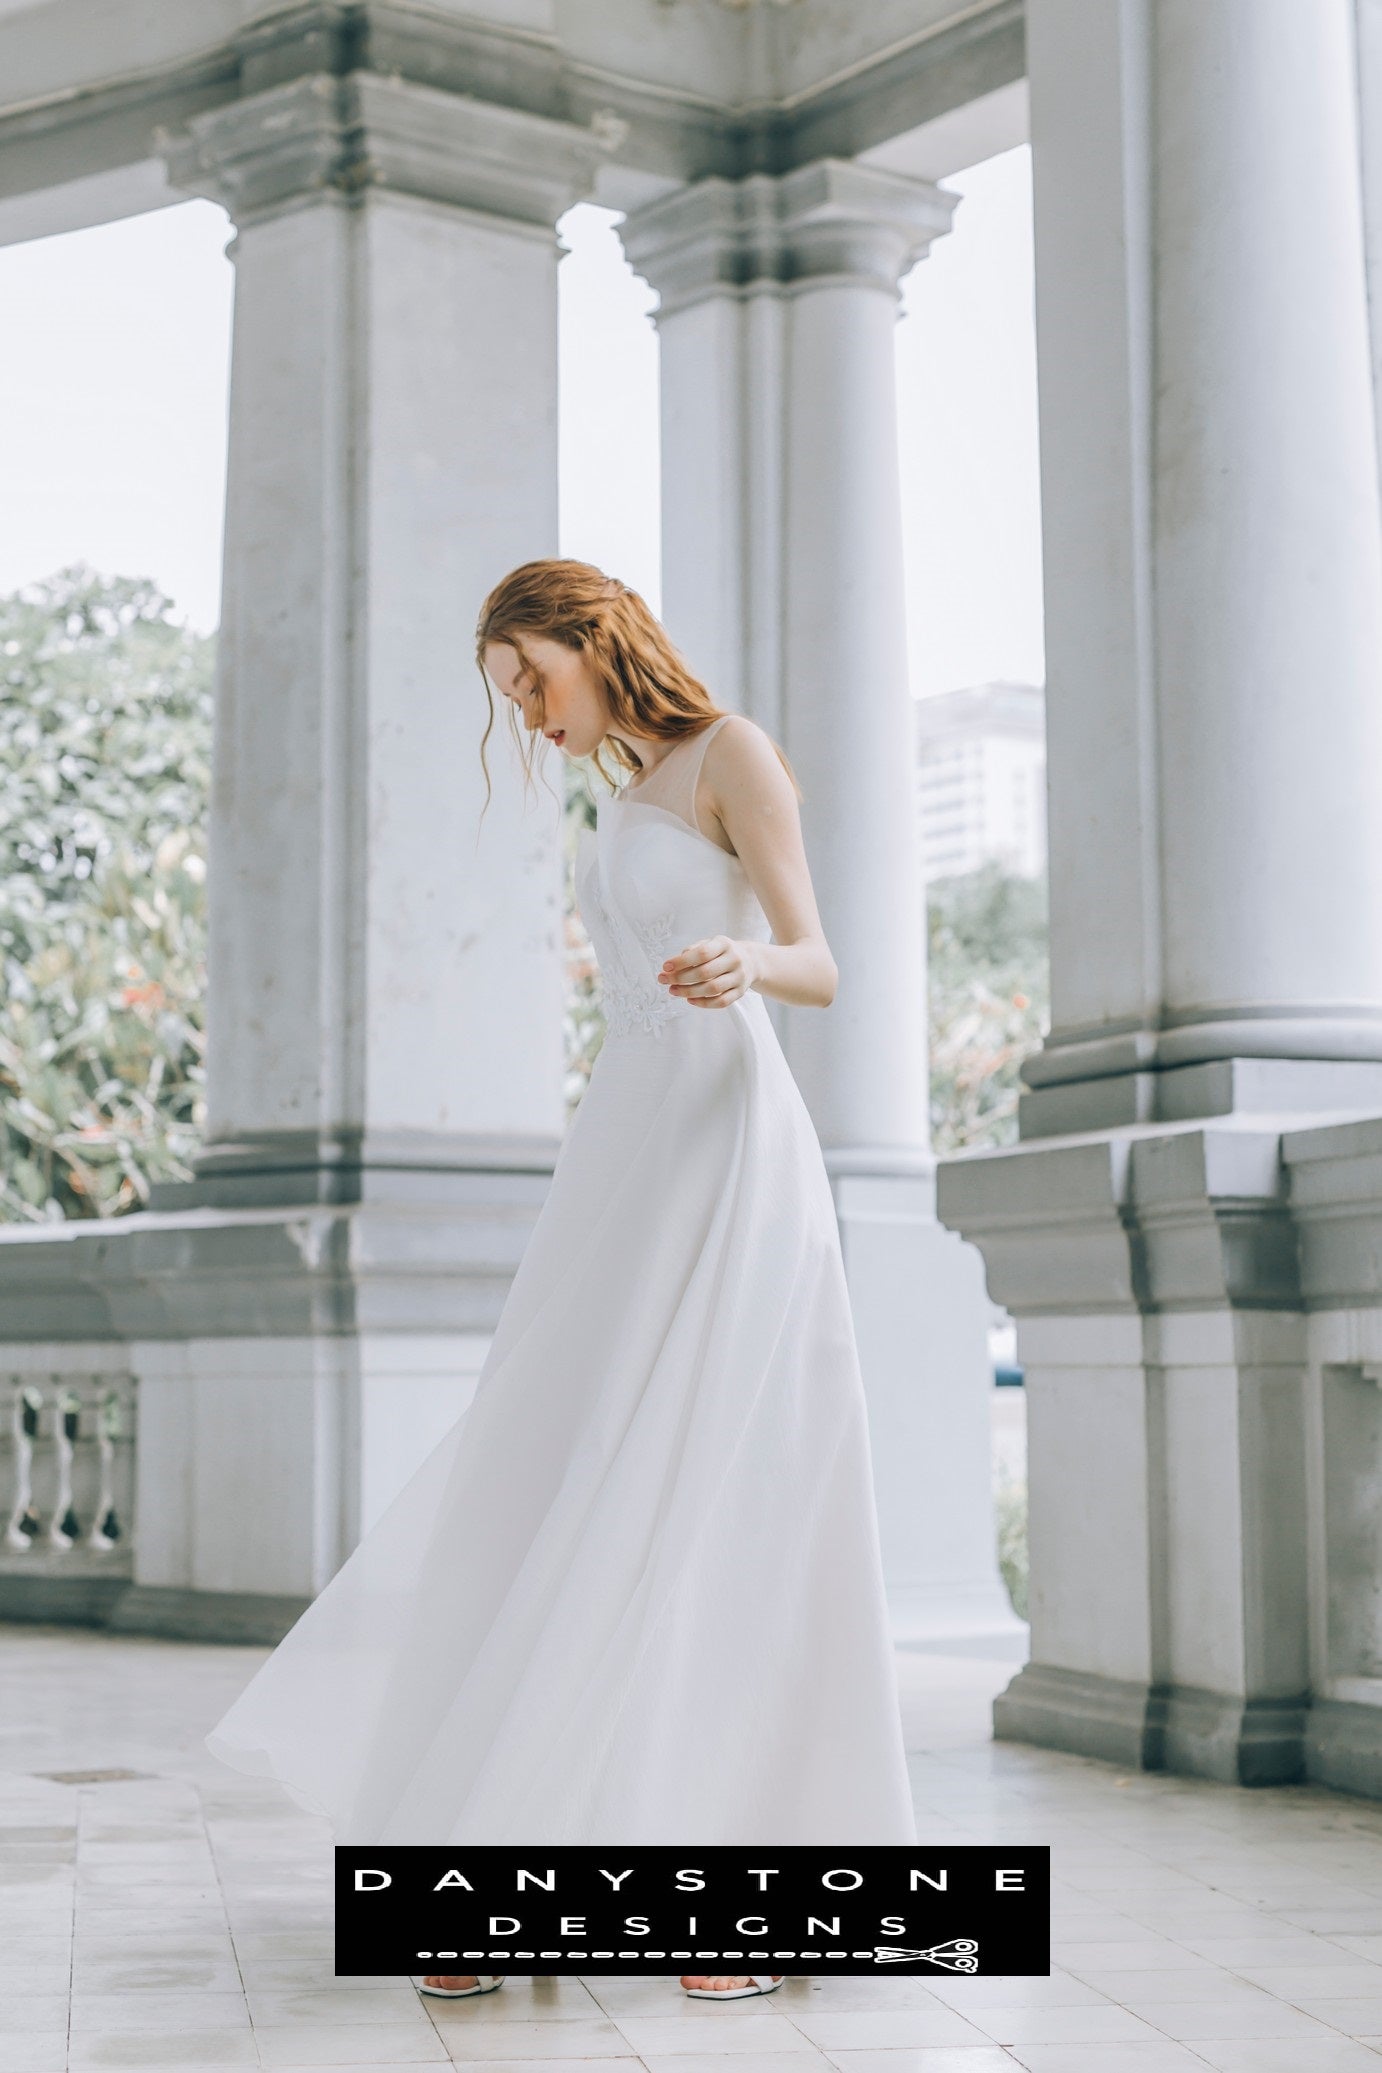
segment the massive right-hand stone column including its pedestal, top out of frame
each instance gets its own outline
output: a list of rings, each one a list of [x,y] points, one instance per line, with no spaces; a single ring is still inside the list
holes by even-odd
[[[1376,1121],[1287,1128],[1382,1107],[1351,6],[1030,0],[1028,60],[1055,1028],[1028,1142],[939,1177],[1028,1374],[1032,1660],[995,1725],[1285,1783],[1351,1696],[1314,1314],[1376,1300],[1378,1256]],[[1330,1590],[1357,1631],[1376,1580]],[[1336,1737],[1382,1774],[1376,1694]]]

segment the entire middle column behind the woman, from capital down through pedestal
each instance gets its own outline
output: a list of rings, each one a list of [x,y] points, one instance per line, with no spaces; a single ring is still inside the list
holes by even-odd
[[[820,160],[700,180],[622,230],[661,294],[667,626],[791,757],[839,964],[829,1012],[773,1014],[835,1184],[899,1638],[1017,1625],[982,1265],[934,1221],[897,481],[899,280],[953,207]]]

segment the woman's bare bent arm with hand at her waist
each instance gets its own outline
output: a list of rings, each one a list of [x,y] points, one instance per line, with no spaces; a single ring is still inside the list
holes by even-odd
[[[688,943],[667,958],[659,985],[696,1007],[729,1007],[750,987],[798,1007],[829,1007],[839,972],[820,929],[796,792],[773,742],[736,713],[709,744],[700,775],[773,941],[713,935]]]

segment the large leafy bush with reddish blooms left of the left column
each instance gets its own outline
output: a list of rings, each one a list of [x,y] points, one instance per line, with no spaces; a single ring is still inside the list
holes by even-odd
[[[118,1215],[203,1113],[213,643],[149,583],[0,599],[0,1219]]]

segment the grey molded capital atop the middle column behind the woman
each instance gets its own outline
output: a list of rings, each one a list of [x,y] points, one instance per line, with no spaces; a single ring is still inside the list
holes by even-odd
[[[781,174],[696,180],[632,209],[620,238],[659,290],[659,317],[765,284],[794,294],[843,280],[895,296],[908,267],[949,230],[957,201],[930,180],[820,158]]]

